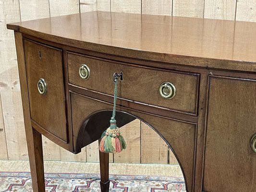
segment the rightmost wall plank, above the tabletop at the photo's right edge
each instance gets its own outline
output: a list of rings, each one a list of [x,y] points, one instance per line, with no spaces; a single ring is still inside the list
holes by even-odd
[[[256,0],[237,0],[235,20],[256,22]]]

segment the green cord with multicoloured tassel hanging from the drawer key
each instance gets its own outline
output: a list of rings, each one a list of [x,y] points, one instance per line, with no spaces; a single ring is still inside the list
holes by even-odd
[[[119,128],[116,126],[116,100],[117,100],[117,77],[114,78],[114,107],[110,120],[110,127],[102,133],[99,143],[99,151],[104,153],[119,153],[126,148],[126,143],[120,134]]]

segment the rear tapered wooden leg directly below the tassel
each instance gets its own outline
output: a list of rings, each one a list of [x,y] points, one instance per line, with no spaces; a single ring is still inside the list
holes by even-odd
[[[98,140],[100,142],[100,140]],[[109,180],[109,154],[99,151],[99,167],[100,167],[100,189],[101,192],[110,191]]]

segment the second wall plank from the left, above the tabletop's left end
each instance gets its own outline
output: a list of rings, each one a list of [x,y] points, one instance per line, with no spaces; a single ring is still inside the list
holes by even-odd
[[[50,16],[49,0],[20,0],[21,21]]]

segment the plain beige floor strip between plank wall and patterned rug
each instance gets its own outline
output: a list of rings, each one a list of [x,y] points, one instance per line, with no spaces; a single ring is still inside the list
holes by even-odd
[[[99,173],[99,163],[45,161],[46,173]],[[0,161],[0,172],[29,172],[28,161]],[[180,166],[110,163],[110,174],[183,177]]]

